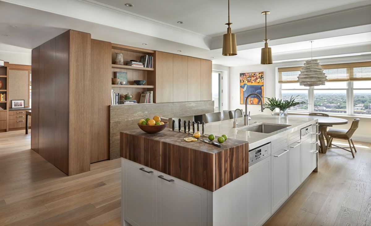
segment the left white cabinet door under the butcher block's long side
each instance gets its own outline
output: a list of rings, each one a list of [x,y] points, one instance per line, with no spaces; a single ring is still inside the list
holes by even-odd
[[[157,171],[125,159],[122,176],[125,221],[132,226],[157,225]]]

